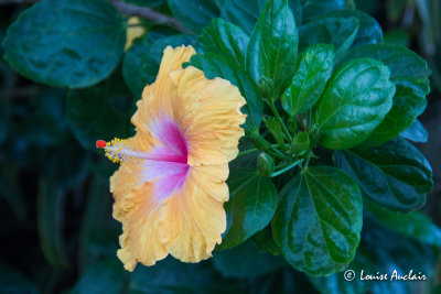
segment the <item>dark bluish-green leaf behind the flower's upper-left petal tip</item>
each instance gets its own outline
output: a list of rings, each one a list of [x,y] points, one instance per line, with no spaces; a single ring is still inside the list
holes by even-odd
[[[178,34],[154,40],[154,31],[133,42],[122,62],[122,76],[126,85],[137,98],[141,98],[142,89],[157,79],[162,53],[166,46],[192,45],[195,36]]]

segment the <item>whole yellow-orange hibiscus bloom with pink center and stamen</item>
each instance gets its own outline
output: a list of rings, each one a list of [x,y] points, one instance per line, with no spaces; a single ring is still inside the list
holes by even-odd
[[[193,47],[165,48],[158,78],[132,117],[136,135],[107,143],[121,162],[110,178],[122,222],[118,257],[132,271],[169,253],[184,262],[212,255],[226,229],[228,162],[238,154],[245,105],[229,81],[182,63]]]

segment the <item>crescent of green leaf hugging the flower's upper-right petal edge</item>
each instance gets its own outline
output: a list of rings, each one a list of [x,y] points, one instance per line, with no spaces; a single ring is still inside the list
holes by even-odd
[[[230,59],[211,53],[194,55],[190,59],[190,65],[203,70],[207,78],[222,77],[238,87],[240,94],[247,100],[247,104],[241,108],[243,112],[247,115],[244,128],[249,132],[259,131],[263,104],[256,84],[246,70]]]

